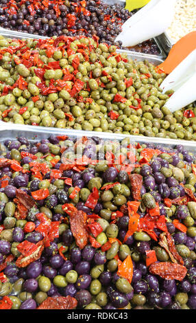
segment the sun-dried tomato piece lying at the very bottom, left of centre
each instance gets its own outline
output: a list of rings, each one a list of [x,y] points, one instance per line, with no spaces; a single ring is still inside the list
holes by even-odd
[[[37,309],[75,309],[77,300],[71,296],[48,297]]]

